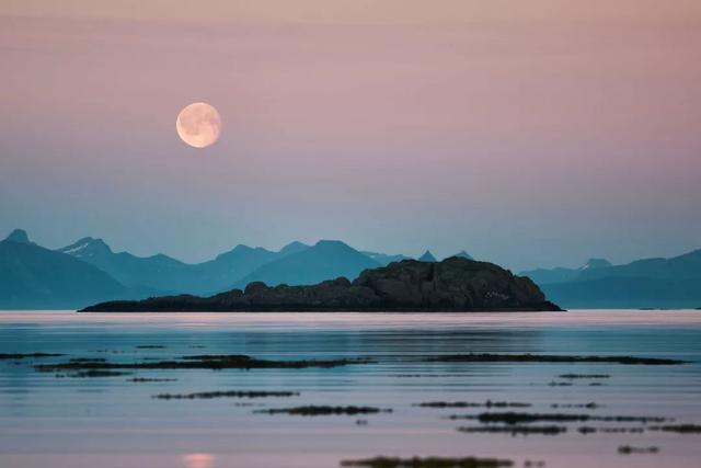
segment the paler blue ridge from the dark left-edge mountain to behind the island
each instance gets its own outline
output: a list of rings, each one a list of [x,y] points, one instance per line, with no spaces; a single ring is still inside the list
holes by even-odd
[[[22,237],[21,233],[16,236]],[[313,247],[295,241],[278,252],[239,244],[197,264],[183,263],[163,254],[117,253],[102,239],[91,237],[57,251],[96,266],[128,287],[149,288],[159,294],[194,295],[216,294],[252,281],[269,285],[312,284],[337,276],[355,277],[364,269],[409,259],[401,254],[358,252],[340,241],[320,241]],[[460,255],[470,258],[464,252]],[[420,260],[436,262],[429,251]]]

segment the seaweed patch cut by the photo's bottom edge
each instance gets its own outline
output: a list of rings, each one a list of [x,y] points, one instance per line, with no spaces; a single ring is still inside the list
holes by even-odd
[[[343,460],[342,467],[367,468],[505,468],[513,466],[512,460],[475,457],[375,457],[359,460]]]

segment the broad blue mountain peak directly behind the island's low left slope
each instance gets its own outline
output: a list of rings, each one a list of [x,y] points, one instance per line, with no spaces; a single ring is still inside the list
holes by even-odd
[[[307,285],[345,276],[355,278],[363,270],[380,263],[336,240],[321,240],[301,252],[267,263],[232,285],[245,287],[252,282],[268,286]]]

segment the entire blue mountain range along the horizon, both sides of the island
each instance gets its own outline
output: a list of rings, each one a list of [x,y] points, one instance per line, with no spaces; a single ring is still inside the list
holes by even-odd
[[[451,256],[472,258],[464,251]],[[215,259],[185,263],[163,254],[114,252],[85,237],[50,250],[23,230],[0,241],[0,309],[70,309],[106,300],[192,294],[210,296],[249,283],[312,285],[410,259],[321,240],[279,251],[237,246]],[[430,251],[420,262],[437,262]],[[564,308],[696,308],[701,306],[701,250],[670,259],[613,265],[591,259],[578,269],[525,271],[549,300]]]

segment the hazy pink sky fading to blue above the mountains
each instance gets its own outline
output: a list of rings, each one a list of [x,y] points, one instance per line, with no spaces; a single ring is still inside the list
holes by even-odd
[[[517,271],[701,248],[698,0],[3,0],[0,60],[0,237]],[[205,149],[175,132],[197,101]]]

